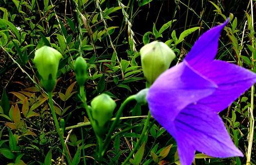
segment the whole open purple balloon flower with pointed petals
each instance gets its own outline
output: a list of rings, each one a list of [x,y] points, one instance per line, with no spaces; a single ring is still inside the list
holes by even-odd
[[[196,151],[221,158],[243,156],[218,112],[251,87],[256,74],[214,60],[227,23],[204,33],[184,61],[162,73],[147,93],[152,115],[177,142],[181,164],[191,164]]]

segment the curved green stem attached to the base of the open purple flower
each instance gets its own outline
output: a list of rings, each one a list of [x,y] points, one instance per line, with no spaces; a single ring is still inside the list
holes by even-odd
[[[106,138],[105,138],[105,142],[103,144],[103,150],[101,152],[101,157],[104,155],[106,149],[108,148],[109,144],[110,144],[110,141],[111,141],[111,133],[113,132],[113,130],[115,129],[116,127],[116,124],[117,122],[119,121],[120,119],[120,116],[123,112],[123,109],[126,107],[127,104],[129,104],[131,101],[135,100],[135,95],[132,95],[132,96],[129,96],[127,97],[124,102],[121,104],[120,108],[118,109],[117,111],[117,114],[116,114],[116,119],[114,120],[114,122],[112,123],[111,127],[110,127],[110,130],[108,132],[108,134],[106,135]]]

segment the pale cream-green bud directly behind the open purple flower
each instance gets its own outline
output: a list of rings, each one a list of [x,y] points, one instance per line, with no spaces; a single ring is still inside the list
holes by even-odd
[[[165,43],[154,41],[140,49],[141,64],[144,76],[149,85],[167,70],[175,59],[175,53]]]

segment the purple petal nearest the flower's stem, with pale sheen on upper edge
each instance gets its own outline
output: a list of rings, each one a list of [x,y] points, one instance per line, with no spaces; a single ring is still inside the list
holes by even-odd
[[[147,102],[154,118],[165,127],[188,104],[214,93],[215,83],[181,63],[161,74],[147,93]]]

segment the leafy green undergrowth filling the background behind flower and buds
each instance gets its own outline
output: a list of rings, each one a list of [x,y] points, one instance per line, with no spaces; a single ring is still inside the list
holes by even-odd
[[[100,93],[107,93],[119,105],[119,100],[145,87],[138,53],[143,44],[154,40],[165,42],[177,55],[172,64],[175,65],[184,58],[203,29],[223,22],[227,11],[238,13],[241,8],[239,12],[244,14],[229,15],[231,22],[223,35],[228,37],[220,42],[218,58],[255,70],[256,42],[247,3],[233,0],[228,2],[232,7],[221,1],[202,1],[201,5],[194,2],[190,6],[183,1],[168,3],[152,0],[1,1],[0,162],[64,163],[47,104],[48,96],[40,88],[39,75],[32,61],[35,49],[42,45],[57,49],[63,56],[53,98],[56,114],[66,121],[64,136],[73,157],[72,164],[83,163],[83,159],[93,163],[96,148],[90,124],[69,131],[69,126],[89,122],[76,92],[73,61],[78,56],[82,55],[89,65],[88,101]],[[222,114],[234,143],[245,154],[247,136],[253,129],[247,125],[251,120],[249,98],[250,93],[246,93]],[[111,137],[114,147],[106,152],[105,164],[120,164],[138,143],[147,110],[135,105],[131,111],[123,112],[126,117]],[[252,155],[253,160],[255,155]],[[175,140],[151,120],[151,129],[130,163],[170,162],[179,164]],[[218,159],[196,154],[196,162],[242,164],[246,158]]]

